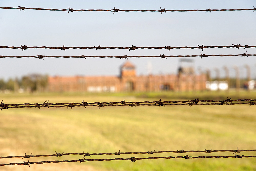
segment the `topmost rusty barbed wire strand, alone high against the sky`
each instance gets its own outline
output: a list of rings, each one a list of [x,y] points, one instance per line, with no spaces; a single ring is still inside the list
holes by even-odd
[[[49,10],[49,11],[66,11],[68,12],[72,12],[74,13],[74,11],[78,11],[78,12],[83,12],[83,11],[109,11],[109,12],[113,12],[113,14],[115,14],[115,12],[120,12],[120,11],[123,11],[123,12],[161,12],[162,13],[166,13],[166,12],[189,12],[189,11],[196,11],[196,12],[212,12],[212,11],[242,11],[242,10],[253,10],[253,12],[256,10],[255,7],[253,6],[252,9],[248,9],[248,8],[245,8],[245,9],[192,9],[192,10],[188,10],[188,9],[179,9],[179,10],[173,10],[173,9],[165,9],[165,8],[161,8],[159,10],[137,10],[137,9],[133,9],[133,10],[123,10],[123,9],[118,9],[118,8],[115,8],[114,9],[74,9],[74,8],[66,8],[66,9],[52,9],[52,8],[26,8],[25,6],[22,7],[22,6],[19,6],[19,7],[0,7],[1,9],[19,9],[19,10],[23,10],[23,12],[25,12],[25,9],[34,9],[34,10]]]

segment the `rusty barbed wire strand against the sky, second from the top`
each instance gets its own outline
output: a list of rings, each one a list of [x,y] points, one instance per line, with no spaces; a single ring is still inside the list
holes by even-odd
[[[249,45],[235,45],[235,44],[232,44],[232,45],[229,45],[229,46],[199,46],[197,45],[197,47],[195,46],[178,46],[178,47],[171,47],[171,46],[165,46],[165,47],[151,47],[151,46],[141,46],[141,47],[136,47],[136,46],[131,46],[131,47],[115,47],[115,46],[111,46],[111,47],[100,47],[99,46],[90,46],[90,47],[76,47],[76,46],[72,46],[72,47],[65,47],[64,45],[62,47],[47,47],[47,46],[22,46],[20,45],[20,47],[16,47],[16,46],[0,46],[0,48],[10,48],[10,49],[22,49],[23,50],[26,50],[26,49],[39,49],[39,48],[42,48],[42,49],[60,49],[60,50],[65,50],[65,49],[96,49],[96,50],[100,50],[100,49],[128,49],[129,51],[130,50],[135,50],[135,49],[167,49],[168,51],[170,51],[170,49],[202,49],[202,51],[204,50],[204,48],[237,48],[239,49],[240,47],[242,48],[256,48],[256,46],[249,46]]]

